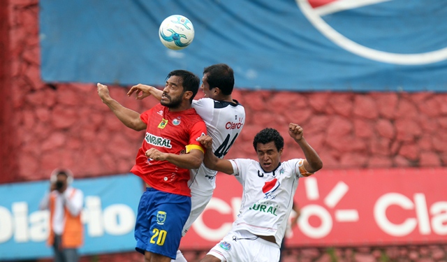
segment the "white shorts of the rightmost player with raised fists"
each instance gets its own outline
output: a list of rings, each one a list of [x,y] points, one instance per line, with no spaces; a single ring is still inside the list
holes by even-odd
[[[279,253],[276,243],[258,238],[249,231],[230,231],[208,252],[222,262],[275,262],[279,261]]]

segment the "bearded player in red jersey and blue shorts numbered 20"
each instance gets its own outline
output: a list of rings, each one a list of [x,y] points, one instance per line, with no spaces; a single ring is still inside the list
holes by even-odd
[[[97,85],[101,100],[123,124],[146,130],[131,169],[147,185],[135,223],[135,249],[145,254],[145,262],[175,259],[191,210],[189,169],[203,161],[203,147],[197,139],[207,130],[191,108],[199,84],[200,79],[189,71],[170,72],[160,104],[141,115],[112,99],[107,86]]]

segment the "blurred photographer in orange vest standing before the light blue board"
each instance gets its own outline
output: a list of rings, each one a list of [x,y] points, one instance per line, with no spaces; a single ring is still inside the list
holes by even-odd
[[[50,234],[47,244],[54,249],[54,262],[78,262],[83,226],[80,219],[84,194],[71,187],[73,173],[56,169],[51,173],[50,192],[41,201],[41,210],[50,210]]]

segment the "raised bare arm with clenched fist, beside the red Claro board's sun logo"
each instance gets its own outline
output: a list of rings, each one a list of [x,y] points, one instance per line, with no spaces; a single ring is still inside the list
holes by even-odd
[[[323,168],[323,161],[321,161],[316,151],[307,143],[303,136],[304,131],[301,126],[293,123],[288,124],[288,134],[300,145],[302,152],[305,153],[306,159],[303,165],[307,172],[315,173]]]

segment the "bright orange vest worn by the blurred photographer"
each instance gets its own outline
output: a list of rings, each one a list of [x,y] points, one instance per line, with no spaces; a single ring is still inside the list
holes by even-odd
[[[76,189],[73,189],[68,198],[72,198],[75,194]],[[52,219],[54,214],[54,202],[56,201],[56,196],[50,194],[50,236],[48,237],[47,244],[52,246],[54,243],[54,232],[52,231]],[[78,248],[82,245],[82,232],[84,227],[81,223],[81,214],[79,213],[76,217],[64,208],[64,218],[65,226],[64,233],[62,233],[62,247],[63,248]]]

